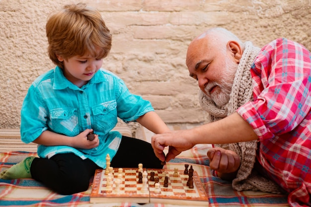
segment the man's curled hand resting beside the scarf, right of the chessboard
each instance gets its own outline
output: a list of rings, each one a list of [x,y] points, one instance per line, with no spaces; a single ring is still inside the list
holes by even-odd
[[[240,158],[235,152],[212,148],[207,152],[207,156],[210,158],[210,168],[216,170],[219,177],[224,180],[235,178],[240,166]]]

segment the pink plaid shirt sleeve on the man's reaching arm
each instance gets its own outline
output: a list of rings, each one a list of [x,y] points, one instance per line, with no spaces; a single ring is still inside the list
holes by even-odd
[[[266,45],[252,67],[253,102],[237,112],[259,139],[292,131],[311,107],[311,54],[302,45],[278,39]]]

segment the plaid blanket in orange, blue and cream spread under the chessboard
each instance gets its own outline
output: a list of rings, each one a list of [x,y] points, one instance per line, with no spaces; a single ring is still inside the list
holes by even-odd
[[[190,163],[196,170],[209,196],[210,207],[288,207],[287,196],[274,195],[254,191],[233,191],[231,183],[212,175],[209,160],[206,155],[208,145],[197,145],[183,152],[165,165],[167,169],[184,169],[185,163]],[[0,153],[0,171],[21,161],[26,156],[36,153],[7,152]],[[59,195],[40,182],[33,179],[0,179],[0,206],[66,206],[66,207],[102,207],[102,204],[90,204],[91,183],[87,191],[63,196]],[[170,207],[162,204],[114,203],[105,207]],[[176,207],[176,206],[172,206]]]

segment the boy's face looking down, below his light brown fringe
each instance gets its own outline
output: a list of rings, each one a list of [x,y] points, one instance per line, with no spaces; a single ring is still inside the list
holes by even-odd
[[[57,55],[59,61],[64,62],[64,76],[79,88],[85,85],[102,66],[103,59],[91,56],[73,56],[64,59]]]

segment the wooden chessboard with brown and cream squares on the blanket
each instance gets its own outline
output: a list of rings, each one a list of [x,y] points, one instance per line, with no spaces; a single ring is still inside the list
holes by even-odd
[[[174,170],[169,169],[143,169],[148,172],[148,191],[142,192],[142,183],[138,183],[138,168],[123,168],[123,176],[119,190],[113,182],[107,189],[105,170],[96,170],[90,195],[91,203],[122,203],[133,202],[139,204],[160,203],[185,206],[207,206],[208,197],[205,193],[200,177],[193,172],[193,189],[186,186],[188,175],[183,170],[178,170],[178,176],[174,176]],[[168,176],[168,187],[163,187],[165,171]],[[150,172],[155,172],[159,178],[160,193],[155,193],[155,182],[150,181]],[[118,169],[113,169],[113,179],[118,178]]]

